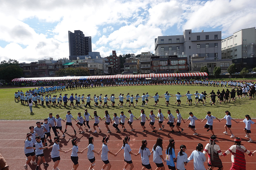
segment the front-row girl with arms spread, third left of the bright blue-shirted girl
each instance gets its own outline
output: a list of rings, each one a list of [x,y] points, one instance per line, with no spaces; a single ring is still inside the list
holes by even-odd
[[[130,137],[129,136],[125,136],[125,139],[123,139],[123,145],[121,147],[121,149],[116,153],[116,155],[123,149],[124,150],[124,158],[125,158],[125,167],[124,170],[128,167],[128,165],[130,165],[130,169],[132,170],[134,168],[134,164],[131,161],[131,154],[135,155],[134,153],[131,152],[131,147],[128,144],[128,142],[130,142]]]

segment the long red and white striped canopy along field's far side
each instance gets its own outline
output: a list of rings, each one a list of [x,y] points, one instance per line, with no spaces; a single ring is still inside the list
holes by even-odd
[[[163,78],[163,77],[204,77],[207,73],[166,73],[166,74],[128,74],[128,75],[108,75],[108,76],[73,76],[73,77],[34,77],[16,78],[12,82],[31,81],[64,81],[64,80],[87,80],[87,79],[140,79],[140,78]]]

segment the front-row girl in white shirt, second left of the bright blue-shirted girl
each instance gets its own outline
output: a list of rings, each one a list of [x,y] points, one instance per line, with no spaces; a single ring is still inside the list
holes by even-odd
[[[140,150],[137,154],[135,154],[135,156],[140,154],[141,157],[141,161],[142,161],[142,170],[148,169],[148,170],[152,170],[151,165],[149,163],[149,157],[151,155],[150,150],[147,148],[148,142],[143,139],[142,140],[142,145],[140,147]]]

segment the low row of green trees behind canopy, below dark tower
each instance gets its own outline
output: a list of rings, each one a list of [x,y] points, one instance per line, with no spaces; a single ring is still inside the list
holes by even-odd
[[[58,71],[55,71],[56,77],[61,76],[90,76],[88,68],[76,67],[76,68],[62,68]]]

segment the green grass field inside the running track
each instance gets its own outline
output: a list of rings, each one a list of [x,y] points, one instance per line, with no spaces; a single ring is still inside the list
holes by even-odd
[[[81,108],[76,107],[35,107],[33,106],[33,113],[30,113],[29,106],[21,105],[20,102],[14,101],[14,93],[15,91],[22,90],[25,92],[26,90],[32,89],[31,88],[2,88],[0,89],[0,119],[44,119],[47,118],[49,113],[53,113],[55,116],[56,114],[59,114],[61,118],[65,118],[65,115],[67,114],[67,111],[71,111],[74,118],[76,119],[77,113],[81,112],[82,115],[84,113],[84,106]],[[154,86],[122,86],[122,87],[104,87],[104,88],[90,88],[90,89],[79,89],[79,90],[72,90],[72,91],[66,91],[62,92],[68,94],[68,97],[71,93],[73,94],[91,94],[91,97],[93,97],[94,94],[99,95],[108,94],[108,98],[111,96],[111,94],[115,94],[116,97],[119,96],[120,93],[125,94],[127,93],[133,94],[134,96],[138,93],[140,96],[143,93],[148,92],[150,96],[154,96],[156,92],[161,96],[166,91],[169,92],[169,94],[177,94],[177,92],[180,92],[181,95],[186,94],[187,91],[190,91],[191,94],[194,94],[195,91],[198,91],[201,93],[202,91],[206,91],[207,94],[214,90],[215,92],[222,88],[214,88],[214,87],[200,87],[200,86],[170,86],[170,85],[154,85]],[[231,89],[229,89],[231,91]],[[52,94],[53,95],[53,94]],[[56,93],[56,95],[59,95],[59,93]],[[145,110],[146,115],[149,115],[149,112],[151,110],[154,110],[154,113],[157,114],[157,110],[160,108],[162,110],[162,113],[164,116],[167,117],[167,110],[170,109],[171,113],[176,117],[175,110],[178,108],[180,110],[181,115],[183,116],[183,119],[187,119],[189,117],[189,112],[194,113],[196,117],[199,119],[204,119],[204,117],[207,114],[207,111],[211,111],[213,116],[216,116],[217,118],[223,118],[225,116],[225,111],[230,111],[231,116],[233,118],[239,118],[243,119],[245,114],[249,114],[252,118],[256,118],[256,99],[249,100],[248,97],[243,99],[237,99],[236,102],[230,102],[230,103],[223,103],[222,105],[219,105],[216,103],[216,106],[211,106],[209,103],[210,97],[207,98],[206,106],[203,106],[202,104],[198,103],[198,105],[195,105],[195,96],[192,96],[193,102],[192,106],[189,106],[186,104],[186,96],[181,98],[181,106],[177,107],[175,105],[176,97],[170,98],[170,105],[169,107],[166,107],[165,105],[165,99],[160,98],[159,105],[157,107],[153,107],[154,99],[149,99],[148,105],[145,105],[143,108]],[[216,98],[217,100],[217,98]],[[86,102],[86,101],[85,101]],[[93,106],[93,101],[91,101],[92,108],[88,108],[88,113],[90,113],[93,116],[93,111],[97,111],[98,115],[102,118],[104,117],[104,111],[108,110],[111,117],[113,116],[113,113],[117,113],[117,115],[120,115],[121,111],[125,112],[126,116],[128,115],[128,110],[131,109],[132,113],[135,117],[140,116],[140,105],[142,104],[141,99],[139,99],[138,106],[136,108],[129,108],[127,105],[124,106],[124,108],[119,108],[117,106],[117,103],[119,100],[116,100],[116,107],[112,108],[111,106],[109,108],[95,108]],[[135,100],[134,100],[135,103]],[[68,105],[70,102],[68,102]],[[108,101],[108,105],[110,105],[111,102]]]

